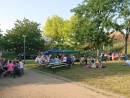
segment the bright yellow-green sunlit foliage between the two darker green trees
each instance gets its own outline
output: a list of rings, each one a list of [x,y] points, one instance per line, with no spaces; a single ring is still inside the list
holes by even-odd
[[[43,27],[43,35],[52,38],[51,47],[65,48],[68,46],[69,21],[57,15],[49,17]]]

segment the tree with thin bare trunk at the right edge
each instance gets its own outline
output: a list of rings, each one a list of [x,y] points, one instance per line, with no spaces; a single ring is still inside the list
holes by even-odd
[[[122,1],[121,10],[118,12],[117,21],[113,31],[121,32],[125,37],[125,54],[127,54],[127,44],[130,34],[130,0]],[[120,21],[120,22],[119,22]]]

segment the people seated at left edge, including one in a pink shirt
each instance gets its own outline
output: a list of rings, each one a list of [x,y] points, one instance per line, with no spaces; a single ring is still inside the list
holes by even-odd
[[[8,59],[0,59],[0,74],[1,77],[7,76],[10,74],[14,78],[24,74],[24,63],[22,60],[17,60],[16,58],[11,61]]]

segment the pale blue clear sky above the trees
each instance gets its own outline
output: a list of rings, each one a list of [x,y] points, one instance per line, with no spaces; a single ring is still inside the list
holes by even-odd
[[[4,34],[14,27],[15,21],[29,19],[44,26],[48,17],[58,15],[70,19],[71,9],[83,0],[0,0],[0,29]]]

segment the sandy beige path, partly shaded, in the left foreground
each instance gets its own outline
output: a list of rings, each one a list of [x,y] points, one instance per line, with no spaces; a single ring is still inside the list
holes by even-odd
[[[74,82],[26,69],[22,77],[0,78],[0,98],[111,98]]]

